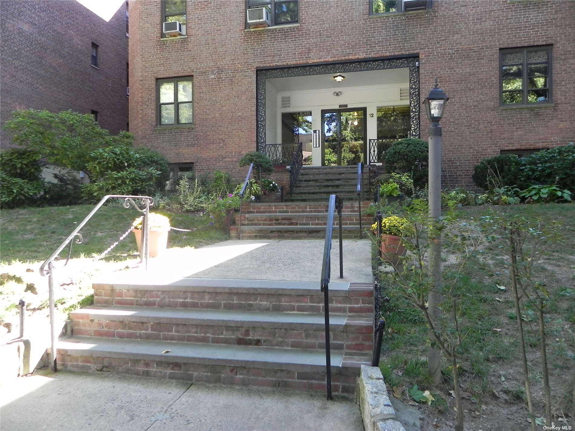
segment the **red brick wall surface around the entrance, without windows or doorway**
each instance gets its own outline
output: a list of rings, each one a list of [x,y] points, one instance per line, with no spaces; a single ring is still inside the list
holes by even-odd
[[[198,172],[228,170],[256,147],[256,68],[419,54],[421,100],[439,78],[444,187],[469,186],[501,149],[575,140],[575,2],[434,1],[420,13],[369,17],[366,1],[300,1],[300,24],[244,30],[244,2],[187,2],[187,37],[161,40],[159,0],[131,2],[131,131]],[[553,45],[553,106],[499,107],[499,50]],[[194,77],[194,127],[156,127],[155,81]],[[421,137],[427,119],[421,113]]]

